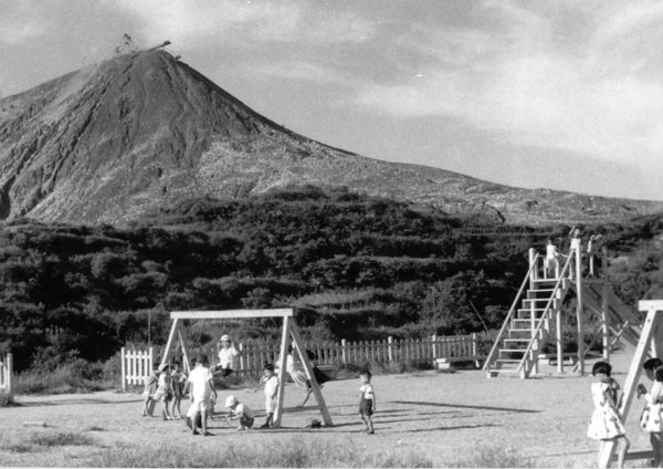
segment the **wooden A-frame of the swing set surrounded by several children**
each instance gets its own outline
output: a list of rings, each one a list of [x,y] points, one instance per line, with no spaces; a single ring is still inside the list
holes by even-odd
[[[176,311],[170,313],[170,319],[172,320],[172,327],[170,329],[170,335],[168,336],[168,343],[166,344],[166,353],[161,358],[161,364],[169,363],[172,356],[173,346],[176,341],[179,338],[182,353],[185,355],[185,367],[187,371],[189,369],[191,363],[191,353],[187,341],[187,327],[183,324],[183,320],[228,320],[228,319],[251,319],[251,317],[282,317],[283,319],[283,334],[281,338],[281,356],[280,362],[275,365],[278,367],[278,394],[277,394],[277,404],[276,411],[274,414],[274,427],[281,426],[281,418],[283,416],[283,399],[285,396],[285,373],[286,373],[286,363],[287,363],[287,348],[291,343],[294,345],[294,348],[297,350],[299,356],[302,357],[302,364],[304,365],[304,371],[306,372],[306,377],[311,382],[311,387],[313,389],[313,394],[317,402],[317,407],[320,410],[323,416],[323,420],[325,425],[332,426],[332,417],[329,415],[329,410],[327,409],[327,405],[325,404],[325,398],[323,397],[323,393],[320,392],[320,387],[315,379],[315,375],[313,373],[313,365],[309,362],[306,350],[304,348],[304,342],[302,342],[302,337],[299,336],[299,331],[294,321],[293,310],[292,309],[283,309],[283,310],[229,310],[229,311]]]

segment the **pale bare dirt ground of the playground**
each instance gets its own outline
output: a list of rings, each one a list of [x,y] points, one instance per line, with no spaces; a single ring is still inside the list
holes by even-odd
[[[632,352],[618,353],[612,359],[613,376],[622,386]],[[588,371],[592,363],[588,363]],[[373,376],[378,411],[375,415],[376,435],[372,436],[361,434],[362,424],[357,415],[358,379],[325,385],[323,394],[334,420],[332,428],[303,428],[308,418],[322,418],[316,408],[294,408],[303,392],[288,384],[282,429],[242,434],[223,420],[215,420],[211,424],[214,436],[208,438],[191,436],[182,420],[140,417],[141,396],[138,394],[18,396],[20,407],[0,408],[0,465],[70,466],[74,460],[76,465],[84,463],[97,447],[45,448],[22,454],[8,450],[7,442],[38,431],[88,431],[95,427],[99,430],[94,431],[99,447],[159,445],[171,438],[190,439],[210,447],[229,442],[241,446],[251,440],[259,444],[303,438],[315,444],[336,439],[367,451],[412,449],[442,466],[454,459],[454,455],[471,452],[483,445],[496,450],[515,450],[535,458],[537,466],[596,466],[597,442],[586,437],[592,413],[591,375],[557,375],[555,368],[547,365],[541,366],[540,372],[541,375],[525,381],[512,377],[486,379],[481,371]],[[649,387],[649,383],[646,385]],[[262,424],[262,390],[223,390],[219,393],[220,403],[231,393],[256,409],[256,420]],[[649,449],[648,435],[638,428],[642,405],[642,400],[634,400],[627,425],[632,450]],[[183,410],[187,406],[185,402]],[[31,421],[45,421],[46,427],[24,425]],[[646,467],[644,461],[629,465]]]

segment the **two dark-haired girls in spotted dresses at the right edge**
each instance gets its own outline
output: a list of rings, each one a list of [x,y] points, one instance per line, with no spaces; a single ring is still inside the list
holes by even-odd
[[[660,468],[663,467],[663,362],[659,358],[650,358],[642,367],[653,384],[649,393],[643,384],[638,385],[638,397],[644,396],[645,399],[640,428],[650,434],[654,452],[652,466]],[[611,371],[610,364],[606,362],[598,362],[592,367],[591,374],[596,378],[591,385],[594,411],[587,436],[600,442],[599,463],[606,442],[613,441],[617,446],[618,467],[621,468],[630,442],[619,415],[619,385],[610,376]]]

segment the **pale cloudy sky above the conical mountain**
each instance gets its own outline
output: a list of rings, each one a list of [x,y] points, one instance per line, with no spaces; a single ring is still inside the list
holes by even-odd
[[[0,0],[0,95],[125,33],[334,147],[663,200],[663,0]]]

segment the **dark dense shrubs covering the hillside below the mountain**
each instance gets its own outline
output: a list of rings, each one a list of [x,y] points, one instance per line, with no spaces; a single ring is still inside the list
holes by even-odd
[[[630,256],[611,269],[633,301],[663,290],[661,256],[650,247],[662,223],[592,227]],[[107,359],[148,334],[165,343],[172,310],[292,306],[315,340],[496,329],[527,270],[527,249],[567,231],[480,226],[316,187],[190,200],[127,228],[18,219],[0,230],[0,353],[13,352],[18,369]],[[223,326],[246,340],[277,334],[275,325]],[[201,344],[215,332],[191,327]]]

